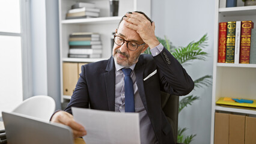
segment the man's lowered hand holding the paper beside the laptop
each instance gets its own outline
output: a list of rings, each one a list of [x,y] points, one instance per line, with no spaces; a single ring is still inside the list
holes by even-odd
[[[87,134],[85,128],[81,124],[78,124],[78,122],[74,120],[73,115],[68,112],[56,112],[50,121],[68,125],[70,128],[72,128],[74,137],[82,137]]]

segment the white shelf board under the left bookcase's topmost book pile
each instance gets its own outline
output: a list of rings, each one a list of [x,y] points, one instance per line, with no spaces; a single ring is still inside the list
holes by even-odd
[[[115,23],[119,22],[122,17],[96,17],[96,18],[88,18],[88,19],[68,19],[61,20],[62,24],[70,24],[70,23]]]

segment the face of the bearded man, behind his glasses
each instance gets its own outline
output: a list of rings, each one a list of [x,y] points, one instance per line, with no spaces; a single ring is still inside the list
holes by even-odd
[[[144,43],[141,37],[139,37],[139,34],[124,26],[124,23],[126,23],[124,20],[120,23],[120,26],[116,31],[116,35],[119,35],[124,40],[133,41],[137,44]],[[114,43],[112,55],[115,61],[117,61],[117,64],[122,65],[123,67],[130,67],[138,62],[139,55],[147,49],[147,44],[139,46],[135,51],[131,51],[127,48],[126,43],[127,42],[122,46],[118,46]]]

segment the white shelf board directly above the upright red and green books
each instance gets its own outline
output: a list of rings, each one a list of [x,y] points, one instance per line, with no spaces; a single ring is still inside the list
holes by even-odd
[[[256,14],[256,6],[219,8],[223,16],[248,16]]]

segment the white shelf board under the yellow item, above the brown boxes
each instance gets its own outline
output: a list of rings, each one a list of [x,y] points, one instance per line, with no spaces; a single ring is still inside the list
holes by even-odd
[[[256,109],[250,110],[250,109],[239,109],[239,108],[233,108],[233,107],[222,107],[222,106],[215,106],[215,110],[221,110],[225,112],[236,112],[236,113],[245,113],[249,115],[256,115]]]

